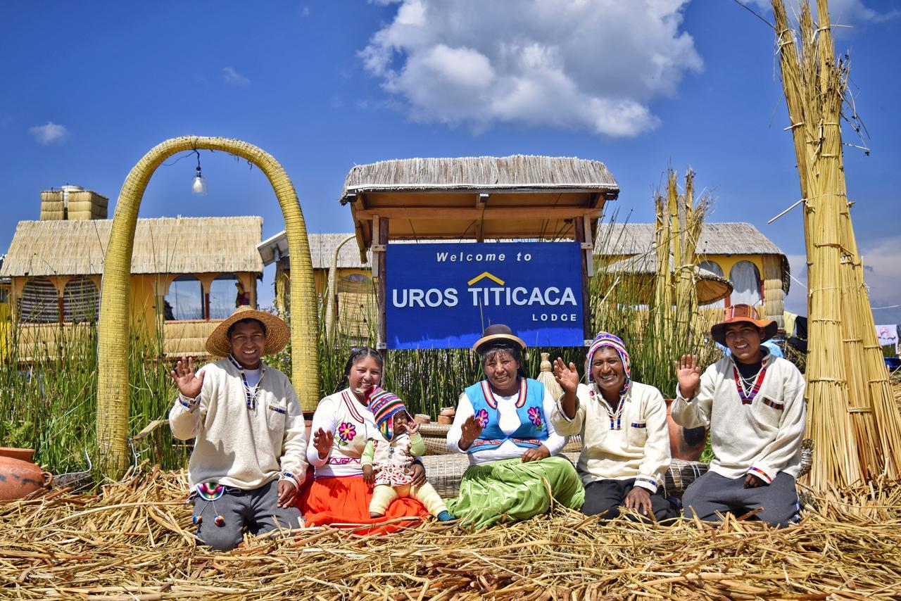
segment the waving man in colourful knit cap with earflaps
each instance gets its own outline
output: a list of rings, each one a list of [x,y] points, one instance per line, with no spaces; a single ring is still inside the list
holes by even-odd
[[[613,519],[624,506],[645,519],[676,517],[663,496],[670,459],[660,390],[632,380],[623,341],[607,332],[592,341],[585,373],[588,384],[579,384],[574,364],[567,366],[559,357],[554,361],[563,396],[551,423],[558,433],[582,437],[576,468],[585,485],[582,513]]]

